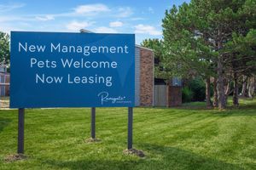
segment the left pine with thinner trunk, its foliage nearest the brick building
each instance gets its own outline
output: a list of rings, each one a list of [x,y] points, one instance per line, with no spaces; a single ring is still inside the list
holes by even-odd
[[[206,80],[207,105],[211,106],[210,76],[215,52],[205,43],[205,37],[194,26],[191,4],[183,3],[166,11],[163,35],[166,55],[164,68],[179,77],[199,76]]]

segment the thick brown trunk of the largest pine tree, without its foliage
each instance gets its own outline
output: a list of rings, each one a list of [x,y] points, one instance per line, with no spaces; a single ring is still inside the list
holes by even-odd
[[[219,56],[218,65],[217,65],[217,73],[218,73],[218,82],[217,82],[217,90],[218,90],[218,109],[222,110],[226,107],[225,97],[224,97],[224,68],[223,68],[223,56]]]

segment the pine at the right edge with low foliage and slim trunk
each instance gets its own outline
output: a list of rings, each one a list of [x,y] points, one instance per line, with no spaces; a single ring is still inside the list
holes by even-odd
[[[234,93],[233,105],[238,103],[238,77],[253,77],[256,72],[256,30],[251,30],[246,37],[234,33],[232,40],[227,42],[226,67],[233,72]]]

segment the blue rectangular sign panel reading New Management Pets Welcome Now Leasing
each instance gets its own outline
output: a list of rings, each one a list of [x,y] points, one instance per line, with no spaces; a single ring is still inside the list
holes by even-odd
[[[132,107],[134,34],[11,32],[10,107]]]

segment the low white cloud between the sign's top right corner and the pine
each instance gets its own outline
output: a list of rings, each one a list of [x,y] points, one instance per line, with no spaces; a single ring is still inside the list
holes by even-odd
[[[148,25],[143,25],[143,24],[135,26],[135,33],[137,33],[137,34],[149,34],[151,36],[160,36],[160,35],[162,35],[162,32],[156,30],[154,26],[148,26]]]

